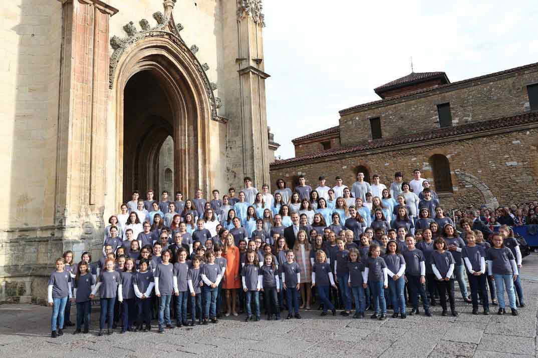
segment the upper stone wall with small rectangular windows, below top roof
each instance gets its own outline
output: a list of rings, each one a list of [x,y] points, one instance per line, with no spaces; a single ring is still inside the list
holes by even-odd
[[[529,111],[527,84],[538,81],[538,66],[489,80],[454,85],[342,113],[340,141],[351,146],[372,139],[369,118],[380,117],[383,138],[439,128],[437,104],[450,103],[452,124]]]

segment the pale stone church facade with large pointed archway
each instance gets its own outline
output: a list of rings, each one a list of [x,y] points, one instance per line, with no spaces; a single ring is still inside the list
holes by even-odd
[[[45,298],[65,250],[98,259],[132,190],[269,181],[261,0],[0,8],[0,300]]]

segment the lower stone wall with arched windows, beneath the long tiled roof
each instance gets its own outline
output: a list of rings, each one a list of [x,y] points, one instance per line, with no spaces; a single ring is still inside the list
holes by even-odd
[[[378,174],[381,183],[387,187],[394,180],[396,171],[402,171],[404,180],[409,181],[413,178],[413,169],[419,168],[422,177],[427,178],[435,190],[430,157],[443,154],[450,163],[453,185],[452,193],[443,195],[441,199],[441,204],[447,208],[484,204],[489,196],[485,187],[499,204],[526,202],[536,199],[537,195],[537,135],[538,130],[533,128],[427,146],[386,148],[378,153],[356,153],[289,164],[277,162],[271,166],[272,190],[275,190],[277,178],[285,178],[288,187],[293,187],[291,182],[300,174],[305,175],[307,184],[313,187],[320,175],[328,178],[327,185],[334,185],[335,176],[340,175],[344,184],[351,186],[356,180],[358,166],[369,169],[370,176]],[[464,177],[462,172],[471,178],[470,182],[461,180]]]

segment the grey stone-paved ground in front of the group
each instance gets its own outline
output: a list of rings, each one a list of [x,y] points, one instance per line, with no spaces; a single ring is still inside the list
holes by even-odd
[[[495,306],[490,316],[473,316],[471,305],[459,299],[461,315],[456,318],[442,317],[438,305],[431,318],[420,314],[386,321],[319,317],[318,311],[302,311],[302,319],[244,323],[239,316],[166,334],[116,331],[98,337],[94,314],[90,334],[72,335],[70,328],[52,339],[51,309],[1,305],[0,357],[536,357],[538,255],[523,259],[523,276],[527,306],[519,317],[512,317],[509,310],[506,316],[497,316]]]

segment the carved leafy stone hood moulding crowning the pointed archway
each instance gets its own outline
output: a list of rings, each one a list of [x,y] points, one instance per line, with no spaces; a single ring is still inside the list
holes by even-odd
[[[153,14],[153,18],[157,22],[157,26],[151,27],[150,23],[146,19],[141,19],[139,24],[141,31],[138,32],[136,26],[133,22],[129,22],[124,26],[125,32],[128,34],[126,38],[120,38],[118,36],[112,36],[110,38],[110,46],[114,49],[112,55],[110,56],[110,71],[109,71],[109,88],[114,88],[114,77],[116,74],[116,69],[118,66],[119,59],[122,57],[123,53],[127,48],[134,45],[137,41],[148,38],[148,37],[160,37],[166,38],[178,46],[182,52],[187,53],[188,58],[192,62],[192,65],[198,71],[204,87],[206,88],[207,95],[209,97],[209,102],[211,104],[211,119],[216,121],[221,121],[221,117],[217,114],[217,109],[221,108],[222,101],[220,98],[215,98],[214,90],[217,89],[217,85],[213,82],[209,82],[209,78],[206,74],[206,71],[209,70],[209,65],[204,63],[203,65],[196,58],[196,52],[199,51],[198,46],[192,45],[190,48],[185,44],[185,41],[181,38],[179,32],[183,30],[183,26],[180,23],[175,24],[172,8],[174,0],[165,0],[165,12],[160,11]],[[225,123],[225,122],[223,122]]]

